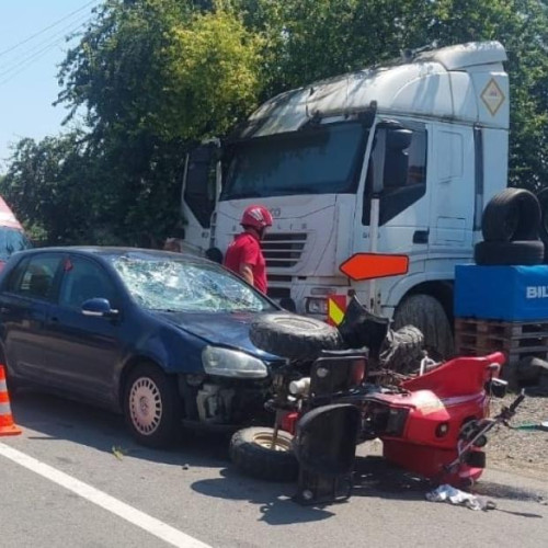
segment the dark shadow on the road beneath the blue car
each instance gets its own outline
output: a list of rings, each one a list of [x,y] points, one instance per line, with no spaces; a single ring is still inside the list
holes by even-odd
[[[67,439],[111,453],[113,458],[115,447],[123,455],[155,463],[207,468],[227,466],[228,437],[222,434],[185,431],[171,449],[150,449],[133,439],[122,415],[85,403],[25,389],[11,398],[11,407],[18,425],[34,431],[25,433],[34,442]]]

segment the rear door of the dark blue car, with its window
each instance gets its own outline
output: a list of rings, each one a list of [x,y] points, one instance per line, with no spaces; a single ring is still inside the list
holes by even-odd
[[[49,370],[48,318],[56,299],[61,253],[25,256],[4,279],[0,296],[2,343],[10,373],[55,385]]]

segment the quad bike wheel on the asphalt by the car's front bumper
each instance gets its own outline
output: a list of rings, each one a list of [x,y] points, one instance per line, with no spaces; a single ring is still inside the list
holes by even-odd
[[[270,448],[274,429],[266,426],[238,431],[230,441],[230,459],[242,473],[267,481],[294,481],[299,472],[293,453],[293,435],[278,431],[276,449]]]

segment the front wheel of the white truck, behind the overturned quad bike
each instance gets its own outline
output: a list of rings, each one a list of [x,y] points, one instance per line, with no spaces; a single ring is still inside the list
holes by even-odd
[[[453,330],[442,304],[430,295],[410,295],[396,308],[393,328],[414,326],[424,335],[424,347],[433,359],[454,355]]]

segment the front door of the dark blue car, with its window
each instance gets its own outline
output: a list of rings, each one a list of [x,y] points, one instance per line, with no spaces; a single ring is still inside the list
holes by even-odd
[[[121,359],[122,311],[116,318],[84,316],[81,306],[106,298],[119,307],[111,274],[94,259],[68,255],[62,265],[59,298],[52,307],[52,369],[64,388],[99,402],[112,402],[115,364]]]

